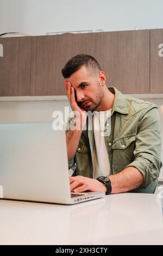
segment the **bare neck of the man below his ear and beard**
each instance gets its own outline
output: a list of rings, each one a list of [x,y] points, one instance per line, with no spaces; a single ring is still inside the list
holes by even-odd
[[[106,86],[104,86],[104,97],[96,111],[106,111],[112,108],[115,99],[115,94],[111,93]]]

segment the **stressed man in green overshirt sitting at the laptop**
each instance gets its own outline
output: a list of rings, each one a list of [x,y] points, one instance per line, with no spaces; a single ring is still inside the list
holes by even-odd
[[[66,133],[69,168],[76,163],[71,191],[154,193],[162,166],[158,108],[107,88],[105,73],[89,55],[71,58],[62,75],[71,108],[78,113],[70,121],[74,127],[80,125]],[[96,113],[93,130],[88,112]],[[102,136],[107,126],[110,132]]]

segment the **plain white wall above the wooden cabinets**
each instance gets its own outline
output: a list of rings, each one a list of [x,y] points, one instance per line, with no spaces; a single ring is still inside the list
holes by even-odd
[[[0,33],[162,26],[162,0],[0,0]]]

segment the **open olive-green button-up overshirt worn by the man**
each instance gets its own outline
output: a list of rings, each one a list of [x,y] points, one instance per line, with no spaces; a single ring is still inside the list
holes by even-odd
[[[105,136],[110,174],[133,166],[142,173],[143,184],[131,192],[153,193],[162,166],[158,107],[153,103],[123,95],[115,87],[108,89],[115,94],[111,109],[111,132]],[[109,123],[107,119],[105,126],[108,124],[109,127]],[[87,120],[86,130],[82,132],[76,154],[68,161],[69,169],[76,163],[73,175],[93,178],[94,146],[93,130],[88,129]]]

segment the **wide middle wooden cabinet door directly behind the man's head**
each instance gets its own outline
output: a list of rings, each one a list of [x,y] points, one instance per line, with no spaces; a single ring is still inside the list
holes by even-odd
[[[122,93],[149,93],[149,31],[34,36],[30,95],[65,95],[61,69],[77,54],[90,54]]]

